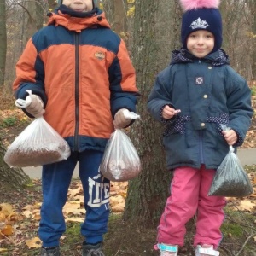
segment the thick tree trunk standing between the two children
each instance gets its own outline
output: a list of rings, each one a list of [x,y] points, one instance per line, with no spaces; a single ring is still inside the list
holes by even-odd
[[[132,125],[131,140],[143,171],[129,183],[124,218],[141,226],[158,224],[172,179],[161,143],[163,126],[150,117],[147,100],[156,74],[168,65],[172,49],[179,45],[180,15],[177,1],[136,1],[132,61],[142,96],[137,106],[141,121]]]

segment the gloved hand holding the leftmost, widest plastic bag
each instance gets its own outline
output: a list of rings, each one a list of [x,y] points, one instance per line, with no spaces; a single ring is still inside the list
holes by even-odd
[[[26,96],[26,111],[32,114],[34,117],[38,118],[41,117],[45,110],[44,110],[44,103],[41,98],[37,95],[29,95]]]

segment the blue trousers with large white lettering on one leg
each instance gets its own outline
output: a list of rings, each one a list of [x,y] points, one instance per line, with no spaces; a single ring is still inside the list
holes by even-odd
[[[102,236],[108,230],[110,183],[99,172],[102,156],[103,152],[96,150],[73,152],[67,160],[43,166],[43,205],[38,230],[43,247],[58,246],[66,230],[62,208],[67,201],[67,191],[78,161],[86,210],[81,234],[88,243],[103,240]]]

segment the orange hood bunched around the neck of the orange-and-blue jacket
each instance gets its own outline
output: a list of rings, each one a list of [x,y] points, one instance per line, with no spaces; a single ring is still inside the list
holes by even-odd
[[[77,17],[70,14],[63,13],[61,8],[55,9],[55,12],[49,14],[48,26],[64,26],[70,31],[81,32],[81,30],[88,27],[103,26],[110,28],[105,14],[100,9],[94,9],[85,17]]]

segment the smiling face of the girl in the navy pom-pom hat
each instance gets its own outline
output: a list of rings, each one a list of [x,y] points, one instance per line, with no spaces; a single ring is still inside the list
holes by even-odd
[[[203,58],[212,52],[214,47],[214,36],[207,30],[197,30],[189,34],[187,48],[192,55]]]

